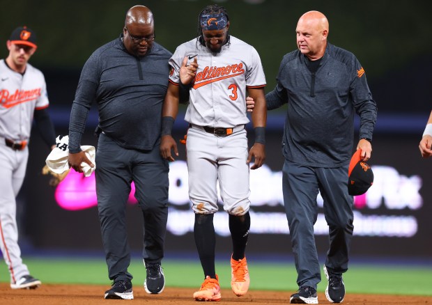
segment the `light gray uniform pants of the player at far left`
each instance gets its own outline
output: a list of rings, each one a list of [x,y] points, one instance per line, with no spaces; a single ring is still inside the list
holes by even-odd
[[[24,150],[13,150],[0,138],[0,249],[8,265],[11,283],[29,274],[29,269],[22,263],[18,246],[15,201],[24,181],[28,157],[27,147]]]

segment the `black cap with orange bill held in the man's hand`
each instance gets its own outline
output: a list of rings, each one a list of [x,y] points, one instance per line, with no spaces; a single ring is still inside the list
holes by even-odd
[[[362,150],[357,149],[348,167],[348,194],[351,196],[362,195],[373,185],[371,166],[362,161],[361,153]]]

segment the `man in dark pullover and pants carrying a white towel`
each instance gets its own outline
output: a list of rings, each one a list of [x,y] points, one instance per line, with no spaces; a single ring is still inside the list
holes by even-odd
[[[91,104],[98,105],[96,194],[102,243],[113,281],[105,299],[133,299],[125,209],[131,182],[144,217],[148,293],[164,289],[161,260],[168,215],[169,165],[159,153],[162,102],[171,53],[154,42],[153,14],[146,6],[128,10],[123,33],[97,49],[84,65],[69,125],[69,163],[82,172],[94,166],[81,138]]]

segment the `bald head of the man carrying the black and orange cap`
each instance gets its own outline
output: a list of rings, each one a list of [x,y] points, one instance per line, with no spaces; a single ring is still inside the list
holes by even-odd
[[[297,47],[311,61],[324,56],[327,47],[327,35],[329,25],[327,17],[317,10],[304,13],[298,19],[297,28]]]

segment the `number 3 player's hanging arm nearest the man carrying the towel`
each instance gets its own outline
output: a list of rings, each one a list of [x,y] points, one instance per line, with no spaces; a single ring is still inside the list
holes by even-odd
[[[174,120],[176,120],[178,114],[179,95],[178,84],[169,82],[167,94],[165,95],[164,104],[162,106],[162,140],[160,143],[160,155],[168,161],[174,161],[171,150],[178,156],[177,144],[171,132]]]

